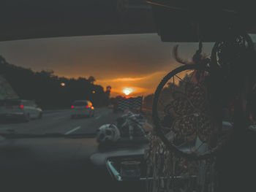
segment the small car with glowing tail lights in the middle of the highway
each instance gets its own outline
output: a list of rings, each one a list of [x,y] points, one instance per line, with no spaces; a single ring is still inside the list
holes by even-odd
[[[92,106],[91,101],[87,101],[87,100],[74,101],[71,106],[71,109],[72,109],[71,118],[94,116],[94,107]]]

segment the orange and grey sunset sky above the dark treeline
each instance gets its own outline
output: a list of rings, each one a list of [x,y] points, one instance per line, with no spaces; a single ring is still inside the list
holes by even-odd
[[[112,96],[132,88],[131,96],[154,93],[159,81],[179,64],[157,34],[64,37],[0,42],[0,55],[10,64],[34,71],[53,70],[61,77],[94,76],[95,84],[112,86]],[[179,53],[192,58],[195,43],[178,43]],[[209,55],[212,43],[203,44]]]

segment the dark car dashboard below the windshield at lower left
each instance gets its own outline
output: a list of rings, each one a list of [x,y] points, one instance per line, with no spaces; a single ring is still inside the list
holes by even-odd
[[[0,154],[4,191],[143,191],[141,183],[116,183],[110,177],[104,158],[118,154],[118,150],[99,151],[94,138],[1,137]]]

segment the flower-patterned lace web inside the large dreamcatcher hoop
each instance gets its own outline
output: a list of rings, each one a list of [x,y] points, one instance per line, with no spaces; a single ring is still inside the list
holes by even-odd
[[[194,142],[197,137],[209,142],[214,134],[214,120],[209,112],[206,86],[186,82],[184,93],[174,92],[173,101],[165,112],[174,118],[171,131],[176,134],[174,142]]]

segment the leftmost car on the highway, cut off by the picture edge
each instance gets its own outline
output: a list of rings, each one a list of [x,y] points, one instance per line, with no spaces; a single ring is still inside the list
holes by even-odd
[[[35,101],[20,99],[0,100],[1,119],[22,120],[28,122],[30,119],[42,118],[42,110]]]

